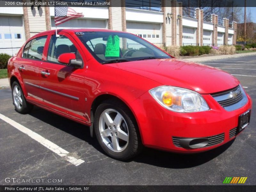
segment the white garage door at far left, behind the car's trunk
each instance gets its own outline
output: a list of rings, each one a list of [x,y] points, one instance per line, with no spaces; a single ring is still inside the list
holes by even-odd
[[[14,55],[25,42],[21,17],[0,16],[0,52]]]

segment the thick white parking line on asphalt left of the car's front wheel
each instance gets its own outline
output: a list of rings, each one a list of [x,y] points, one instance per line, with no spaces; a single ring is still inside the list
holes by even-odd
[[[42,144],[44,147],[46,147],[46,148],[50,149],[51,151],[53,151],[54,153],[56,153],[57,155],[59,155],[61,157],[65,157],[66,161],[68,161],[76,166],[84,163],[84,160],[76,159],[75,157],[68,156],[69,152],[66,151],[65,149],[61,148],[60,146],[52,143],[51,141],[49,141],[47,139],[45,139],[44,137],[37,134],[36,132],[31,131],[27,127],[24,127],[23,125],[13,121],[12,119],[10,119],[2,114],[0,114],[0,119],[4,120],[6,123],[9,123],[16,129],[20,130],[21,132],[27,134],[29,137],[36,140],[37,142]]]

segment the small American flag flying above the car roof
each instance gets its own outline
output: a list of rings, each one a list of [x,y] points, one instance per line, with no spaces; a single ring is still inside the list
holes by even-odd
[[[83,13],[77,13],[74,9],[70,7],[55,7],[55,25],[60,25],[61,23],[65,23],[68,20],[75,19],[78,17],[84,17]]]

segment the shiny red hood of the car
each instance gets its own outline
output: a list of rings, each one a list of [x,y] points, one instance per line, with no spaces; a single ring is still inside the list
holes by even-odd
[[[154,59],[112,63],[108,66],[129,71],[163,85],[187,88],[201,94],[231,89],[239,81],[217,68],[179,59]]]

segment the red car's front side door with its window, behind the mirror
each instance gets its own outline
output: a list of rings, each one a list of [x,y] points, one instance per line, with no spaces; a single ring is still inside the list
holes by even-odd
[[[58,62],[62,53],[75,53],[77,59],[82,59],[85,65],[83,51],[74,39],[67,33],[56,37],[51,34],[47,59],[42,63],[41,89],[44,93],[44,105],[60,113],[76,118],[88,120],[84,104],[84,76],[85,68],[70,67]]]

